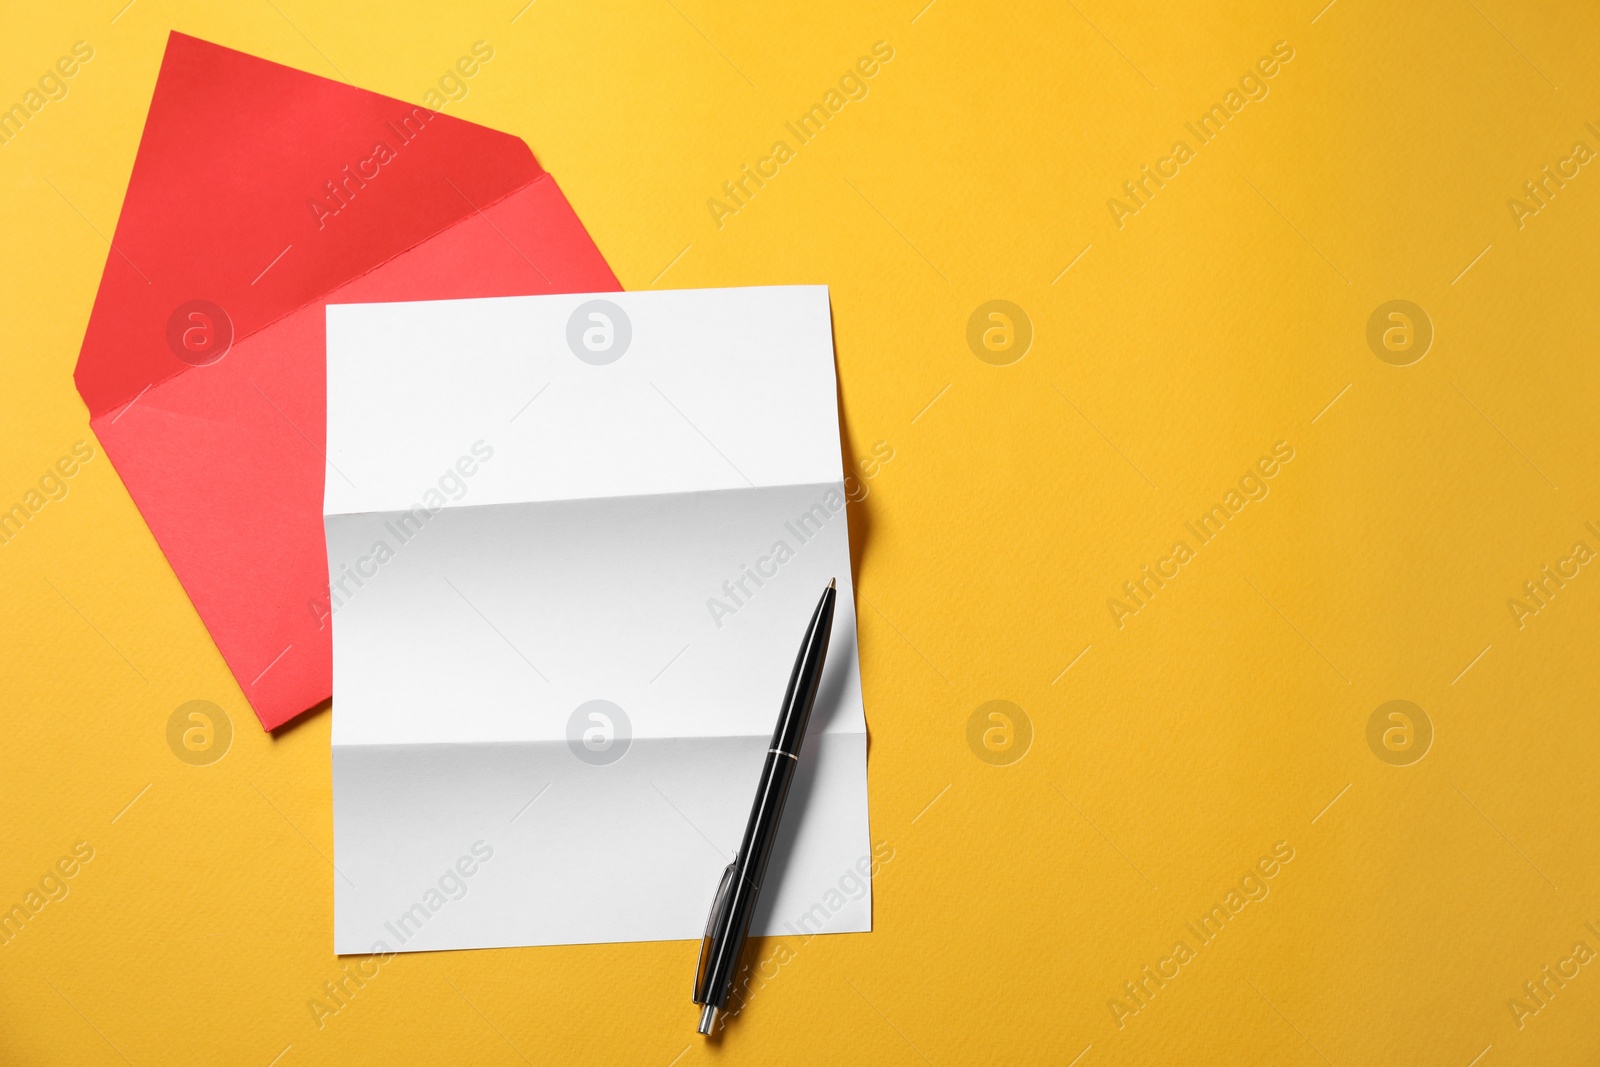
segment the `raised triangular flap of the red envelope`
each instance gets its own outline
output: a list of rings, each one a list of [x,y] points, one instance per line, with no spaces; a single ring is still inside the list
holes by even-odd
[[[510,134],[171,34],[78,355],[90,414],[542,173]]]

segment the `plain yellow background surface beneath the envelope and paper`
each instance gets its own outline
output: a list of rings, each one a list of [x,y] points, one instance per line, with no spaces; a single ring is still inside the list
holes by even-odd
[[[525,138],[624,286],[829,283],[846,445],[894,450],[851,510],[894,857],[875,933],[790,941],[715,1045],[688,942],[400,957],[318,1029],[330,715],[261,733],[99,456],[0,547],[0,902],[94,848],[0,949],[0,1061],[1592,1062],[1600,966],[1520,1029],[1507,1000],[1600,949],[1600,574],[1523,629],[1507,600],[1600,549],[1600,168],[1522,229],[1507,200],[1600,149],[1600,14],[922,3],[6,5],[3,102],[96,54],[0,147],[5,506],[93,440],[70,374],[170,29],[411,101],[490,42],[448,114]],[[870,94],[718,229],[707,198],[878,40]],[[1270,94],[1117,229],[1278,40]],[[1035,330],[1008,366],[966,344],[990,299]],[[1366,344],[1390,299],[1434,323],[1411,366]],[[1107,598],[1280,440],[1270,496],[1118,629]],[[166,745],[190,699],[235,726],[211,766]],[[968,747],[992,699],[1021,761]],[[1410,766],[1366,742],[1390,699],[1435,729]],[[1270,894],[1118,1029],[1275,841]]]

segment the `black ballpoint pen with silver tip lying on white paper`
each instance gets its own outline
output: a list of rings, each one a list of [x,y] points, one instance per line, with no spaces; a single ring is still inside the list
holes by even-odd
[[[755,789],[755,805],[744,827],[739,856],[722,872],[722,883],[706,918],[706,937],[701,941],[699,965],[694,969],[694,1003],[701,1011],[701,1033],[710,1033],[717,1013],[728,1006],[733,979],[738,974],[744,939],[750,933],[755,915],[755,897],[762,891],[766,861],[778,840],[778,824],[784,816],[784,800],[800,766],[800,745],[805,728],[816,704],[816,691],[822,683],[822,662],[827,657],[827,638],[834,632],[834,603],[838,590],[832,579],[822,590],[822,600],[811,613],[811,624],[800,641],[800,654],[789,673],[789,689],[778,712],[778,728],[773,745],[766,750],[762,766],[762,784]]]

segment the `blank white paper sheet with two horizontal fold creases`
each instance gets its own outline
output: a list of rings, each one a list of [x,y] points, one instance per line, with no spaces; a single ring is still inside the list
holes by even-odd
[[[829,577],[752,931],[870,929],[827,290],[326,312],[336,952],[699,937]]]

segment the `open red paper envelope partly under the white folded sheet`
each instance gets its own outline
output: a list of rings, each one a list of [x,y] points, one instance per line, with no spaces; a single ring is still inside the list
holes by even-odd
[[[168,38],[75,381],[264,728],[333,693],[323,306],[618,288],[520,139]]]

